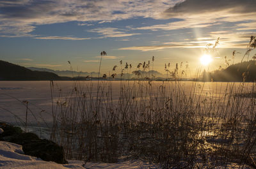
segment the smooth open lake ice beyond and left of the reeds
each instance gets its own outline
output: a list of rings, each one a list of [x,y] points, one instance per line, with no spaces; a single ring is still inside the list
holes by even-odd
[[[79,83],[79,91],[92,91],[92,96],[97,94],[97,81],[81,81]],[[100,86],[109,87],[109,81],[100,81]],[[149,86],[148,82],[134,81],[111,81],[113,102],[118,101],[120,97],[120,84],[130,87]],[[150,82],[152,84],[152,92],[159,92],[159,87],[166,87],[166,91],[175,91],[175,82]],[[176,82],[178,83],[178,82]],[[92,89],[90,89],[92,87]],[[177,87],[177,86],[176,86]],[[229,92],[251,92],[253,83],[227,83],[227,82],[179,82],[179,87],[189,96],[191,91],[193,94],[205,98],[221,99]],[[74,88],[74,81],[56,81],[54,82],[53,98],[64,97]],[[61,89],[61,92],[60,92]],[[230,91],[232,89],[232,91]],[[0,120],[6,122],[19,121],[18,117],[25,119],[26,105],[22,103],[28,101],[28,108],[35,114],[38,119],[51,121],[51,87],[49,81],[2,81],[0,82]],[[33,122],[33,116],[28,113],[29,121]]]

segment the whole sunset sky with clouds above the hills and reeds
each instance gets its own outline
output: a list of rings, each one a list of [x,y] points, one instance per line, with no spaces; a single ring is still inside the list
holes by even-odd
[[[256,35],[255,0],[1,0],[0,59],[26,67],[98,71],[152,61],[188,62],[191,72],[241,61]],[[202,66],[205,48],[213,61]],[[209,46],[210,44],[210,46]],[[252,53],[251,55],[253,55]]]

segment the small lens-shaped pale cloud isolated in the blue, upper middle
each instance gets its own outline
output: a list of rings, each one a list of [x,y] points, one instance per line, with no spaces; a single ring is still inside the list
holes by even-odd
[[[103,28],[96,28],[92,29],[89,32],[91,33],[99,33],[104,37],[111,37],[111,38],[119,38],[119,37],[126,37],[126,36],[133,36],[138,33],[125,33],[124,31],[118,31],[115,27],[103,27]]]

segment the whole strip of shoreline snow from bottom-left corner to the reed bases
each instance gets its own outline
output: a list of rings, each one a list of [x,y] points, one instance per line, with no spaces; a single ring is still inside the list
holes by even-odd
[[[67,168],[87,168],[87,169],[98,169],[98,168],[159,168],[156,165],[144,163],[140,160],[134,161],[119,161],[118,163],[86,163],[83,165],[83,161],[68,161],[67,165],[60,165],[51,161],[42,161],[40,158],[25,155],[22,151],[22,145],[16,143],[0,141],[0,168],[9,169],[45,169],[45,168],[56,168],[56,169],[67,169]],[[84,166],[84,167],[83,167]]]

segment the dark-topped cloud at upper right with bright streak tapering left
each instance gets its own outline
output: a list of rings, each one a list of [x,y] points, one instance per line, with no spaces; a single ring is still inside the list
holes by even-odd
[[[176,22],[135,29],[177,30],[196,27],[219,26],[225,23],[245,22],[234,26],[237,30],[255,29],[256,1],[251,0],[185,0],[163,12],[163,18],[179,18]],[[236,24],[236,23],[235,23]]]

